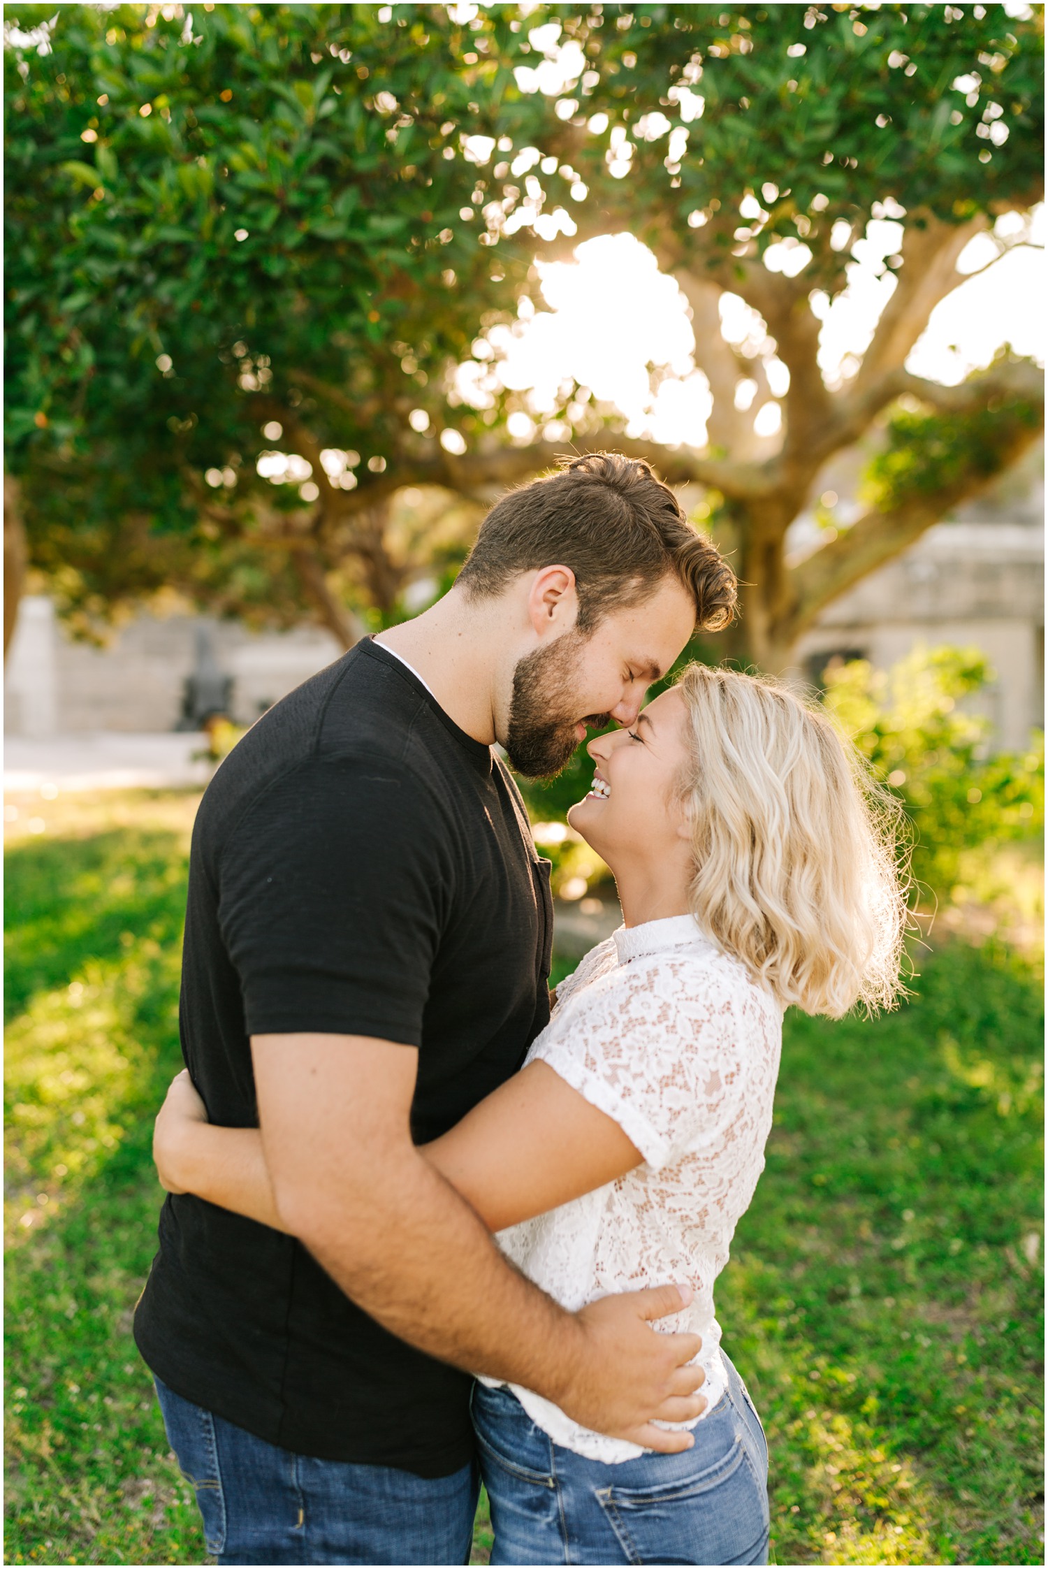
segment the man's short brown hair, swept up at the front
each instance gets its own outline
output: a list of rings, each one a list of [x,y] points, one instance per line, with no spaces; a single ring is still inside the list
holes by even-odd
[[[692,595],[700,631],[719,632],[734,613],[736,576],[720,552],[648,463],[618,452],[565,460],[555,474],[496,502],[458,582],[479,599],[552,565],[574,573],[579,632],[643,604],[667,576]]]

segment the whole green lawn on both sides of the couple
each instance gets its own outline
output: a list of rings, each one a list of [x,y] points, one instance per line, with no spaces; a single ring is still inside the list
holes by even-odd
[[[8,1563],[207,1561],[130,1338],[195,805],[8,824]],[[719,1288],[780,1564],[1043,1561],[1039,967],[951,938],[918,968],[888,1018],[788,1020]]]

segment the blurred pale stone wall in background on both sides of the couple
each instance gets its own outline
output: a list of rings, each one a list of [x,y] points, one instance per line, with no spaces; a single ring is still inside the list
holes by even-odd
[[[817,543],[811,530],[795,526],[800,554]],[[968,507],[824,612],[799,645],[803,673],[817,681],[833,656],[886,667],[915,643],[974,643],[996,672],[984,693],[996,744],[1021,748],[1043,723],[1043,566],[1039,491]],[[151,615],[93,648],[66,635],[49,599],[30,596],[8,656],[5,728],[36,737],[196,730],[193,693],[199,708],[217,689],[227,690],[231,717],[251,723],[340,653],[320,628],[253,634],[209,617]]]

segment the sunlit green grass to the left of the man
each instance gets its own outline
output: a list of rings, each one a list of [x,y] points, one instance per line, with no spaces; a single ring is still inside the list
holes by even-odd
[[[6,1561],[202,1563],[130,1318],[179,1067],[195,800],[55,802],[6,858]]]

